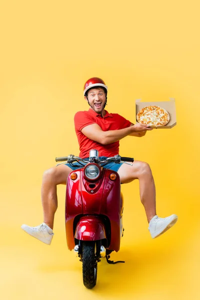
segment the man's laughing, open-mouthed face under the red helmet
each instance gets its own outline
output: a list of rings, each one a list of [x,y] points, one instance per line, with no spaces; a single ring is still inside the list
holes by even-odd
[[[89,101],[89,104],[91,108],[96,112],[96,113],[101,113],[103,110],[106,96],[103,88],[91,88],[89,89],[87,93],[87,98],[84,97],[85,100]]]

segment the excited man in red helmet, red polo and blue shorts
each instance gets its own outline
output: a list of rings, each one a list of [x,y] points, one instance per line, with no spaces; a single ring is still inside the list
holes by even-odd
[[[105,82],[92,77],[85,82],[84,98],[89,104],[88,111],[78,111],[74,116],[75,132],[78,138],[81,158],[89,156],[90,149],[97,149],[99,156],[114,156],[119,151],[119,140],[127,135],[144,136],[152,130],[145,124],[133,124],[116,113],[108,113],[104,107],[107,101]],[[76,163],[77,165],[77,163]],[[82,167],[82,165],[80,165]],[[41,186],[43,223],[31,227],[23,224],[21,228],[33,237],[50,244],[53,237],[54,214],[57,209],[56,185],[66,184],[66,178],[73,169],[68,164],[60,164],[44,171]],[[134,160],[132,165],[110,163],[106,168],[118,172],[121,183],[139,180],[140,199],[144,206],[148,230],[155,238],[169,229],[177,220],[177,215],[158,217],[155,210],[155,185],[151,169],[146,162]]]

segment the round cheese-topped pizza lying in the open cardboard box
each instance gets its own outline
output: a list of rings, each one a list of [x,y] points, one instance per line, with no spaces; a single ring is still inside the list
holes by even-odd
[[[170,116],[166,109],[160,106],[149,105],[138,111],[136,119],[138,123],[149,126],[164,126],[169,122]]]

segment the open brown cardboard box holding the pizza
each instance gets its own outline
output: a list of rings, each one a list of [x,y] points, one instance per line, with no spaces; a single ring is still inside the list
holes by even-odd
[[[170,116],[170,121],[165,126],[149,126],[149,128],[172,128],[176,125],[176,113],[175,113],[175,98],[169,98],[169,101],[154,101],[154,102],[141,102],[141,99],[135,100],[135,119],[137,112],[149,105],[157,105],[162,108],[165,108]],[[136,120],[137,122],[137,120]],[[137,122],[138,123],[138,122]]]

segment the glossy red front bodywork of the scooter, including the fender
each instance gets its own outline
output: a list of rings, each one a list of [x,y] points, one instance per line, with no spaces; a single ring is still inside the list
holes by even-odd
[[[90,238],[95,232],[95,238],[100,236],[107,238],[108,249],[118,251],[120,246],[120,179],[118,174],[103,168],[102,176],[95,182],[91,182],[84,178],[82,169],[73,172],[77,174],[77,178],[72,180],[69,174],[66,184],[65,228],[68,248],[73,249],[74,237],[86,238],[88,234],[88,240],[92,240]],[[115,180],[109,179],[110,173],[116,174]],[[91,218],[91,215],[95,217]],[[84,224],[82,216],[84,216]],[[110,228],[106,228],[108,225],[102,223],[100,216],[109,219]],[[98,226],[96,220],[100,220]],[[84,226],[86,226],[85,230],[83,230]],[[89,228],[91,234],[88,233]]]

